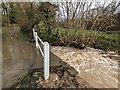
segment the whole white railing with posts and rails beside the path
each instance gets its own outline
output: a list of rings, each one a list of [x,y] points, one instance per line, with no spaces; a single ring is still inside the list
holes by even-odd
[[[44,58],[44,78],[47,80],[49,78],[49,58],[50,58],[50,45],[48,42],[43,42],[40,37],[37,35],[37,32],[35,32],[35,29],[33,28],[33,37],[35,39],[36,48],[38,48]],[[43,45],[43,50],[39,45],[39,42]]]

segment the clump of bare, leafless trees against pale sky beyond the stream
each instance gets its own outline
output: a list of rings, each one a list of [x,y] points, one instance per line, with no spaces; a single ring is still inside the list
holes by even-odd
[[[89,20],[91,30],[102,31],[103,27],[105,31],[114,25],[108,25],[109,21],[113,20],[114,12],[119,6],[119,3],[115,1],[100,3],[96,1],[62,1],[59,2],[59,18],[63,18],[64,25],[67,28],[77,28],[80,30],[86,29],[86,21]],[[95,5],[94,5],[95,4]],[[113,24],[112,23],[112,24]],[[108,26],[108,27],[106,27]]]

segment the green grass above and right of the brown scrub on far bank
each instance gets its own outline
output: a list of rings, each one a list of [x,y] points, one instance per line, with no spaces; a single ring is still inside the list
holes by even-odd
[[[95,36],[97,38],[95,43],[92,43],[92,44],[87,43],[88,44],[87,46],[92,46],[94,48],[99,48],[103,50],[118,51],[120,33],[107,34],[107,33],[96,33],[92,30],[76,30],[75,31],[73,29],[69,29],[69,30],[61,29],[60,31],[63,36],[67,35],[67,32],[73,35],[73,37],[74,35],[77,35],[77,36],[85,35],[86,38],[87,37],[91,38],[92,36]]]

